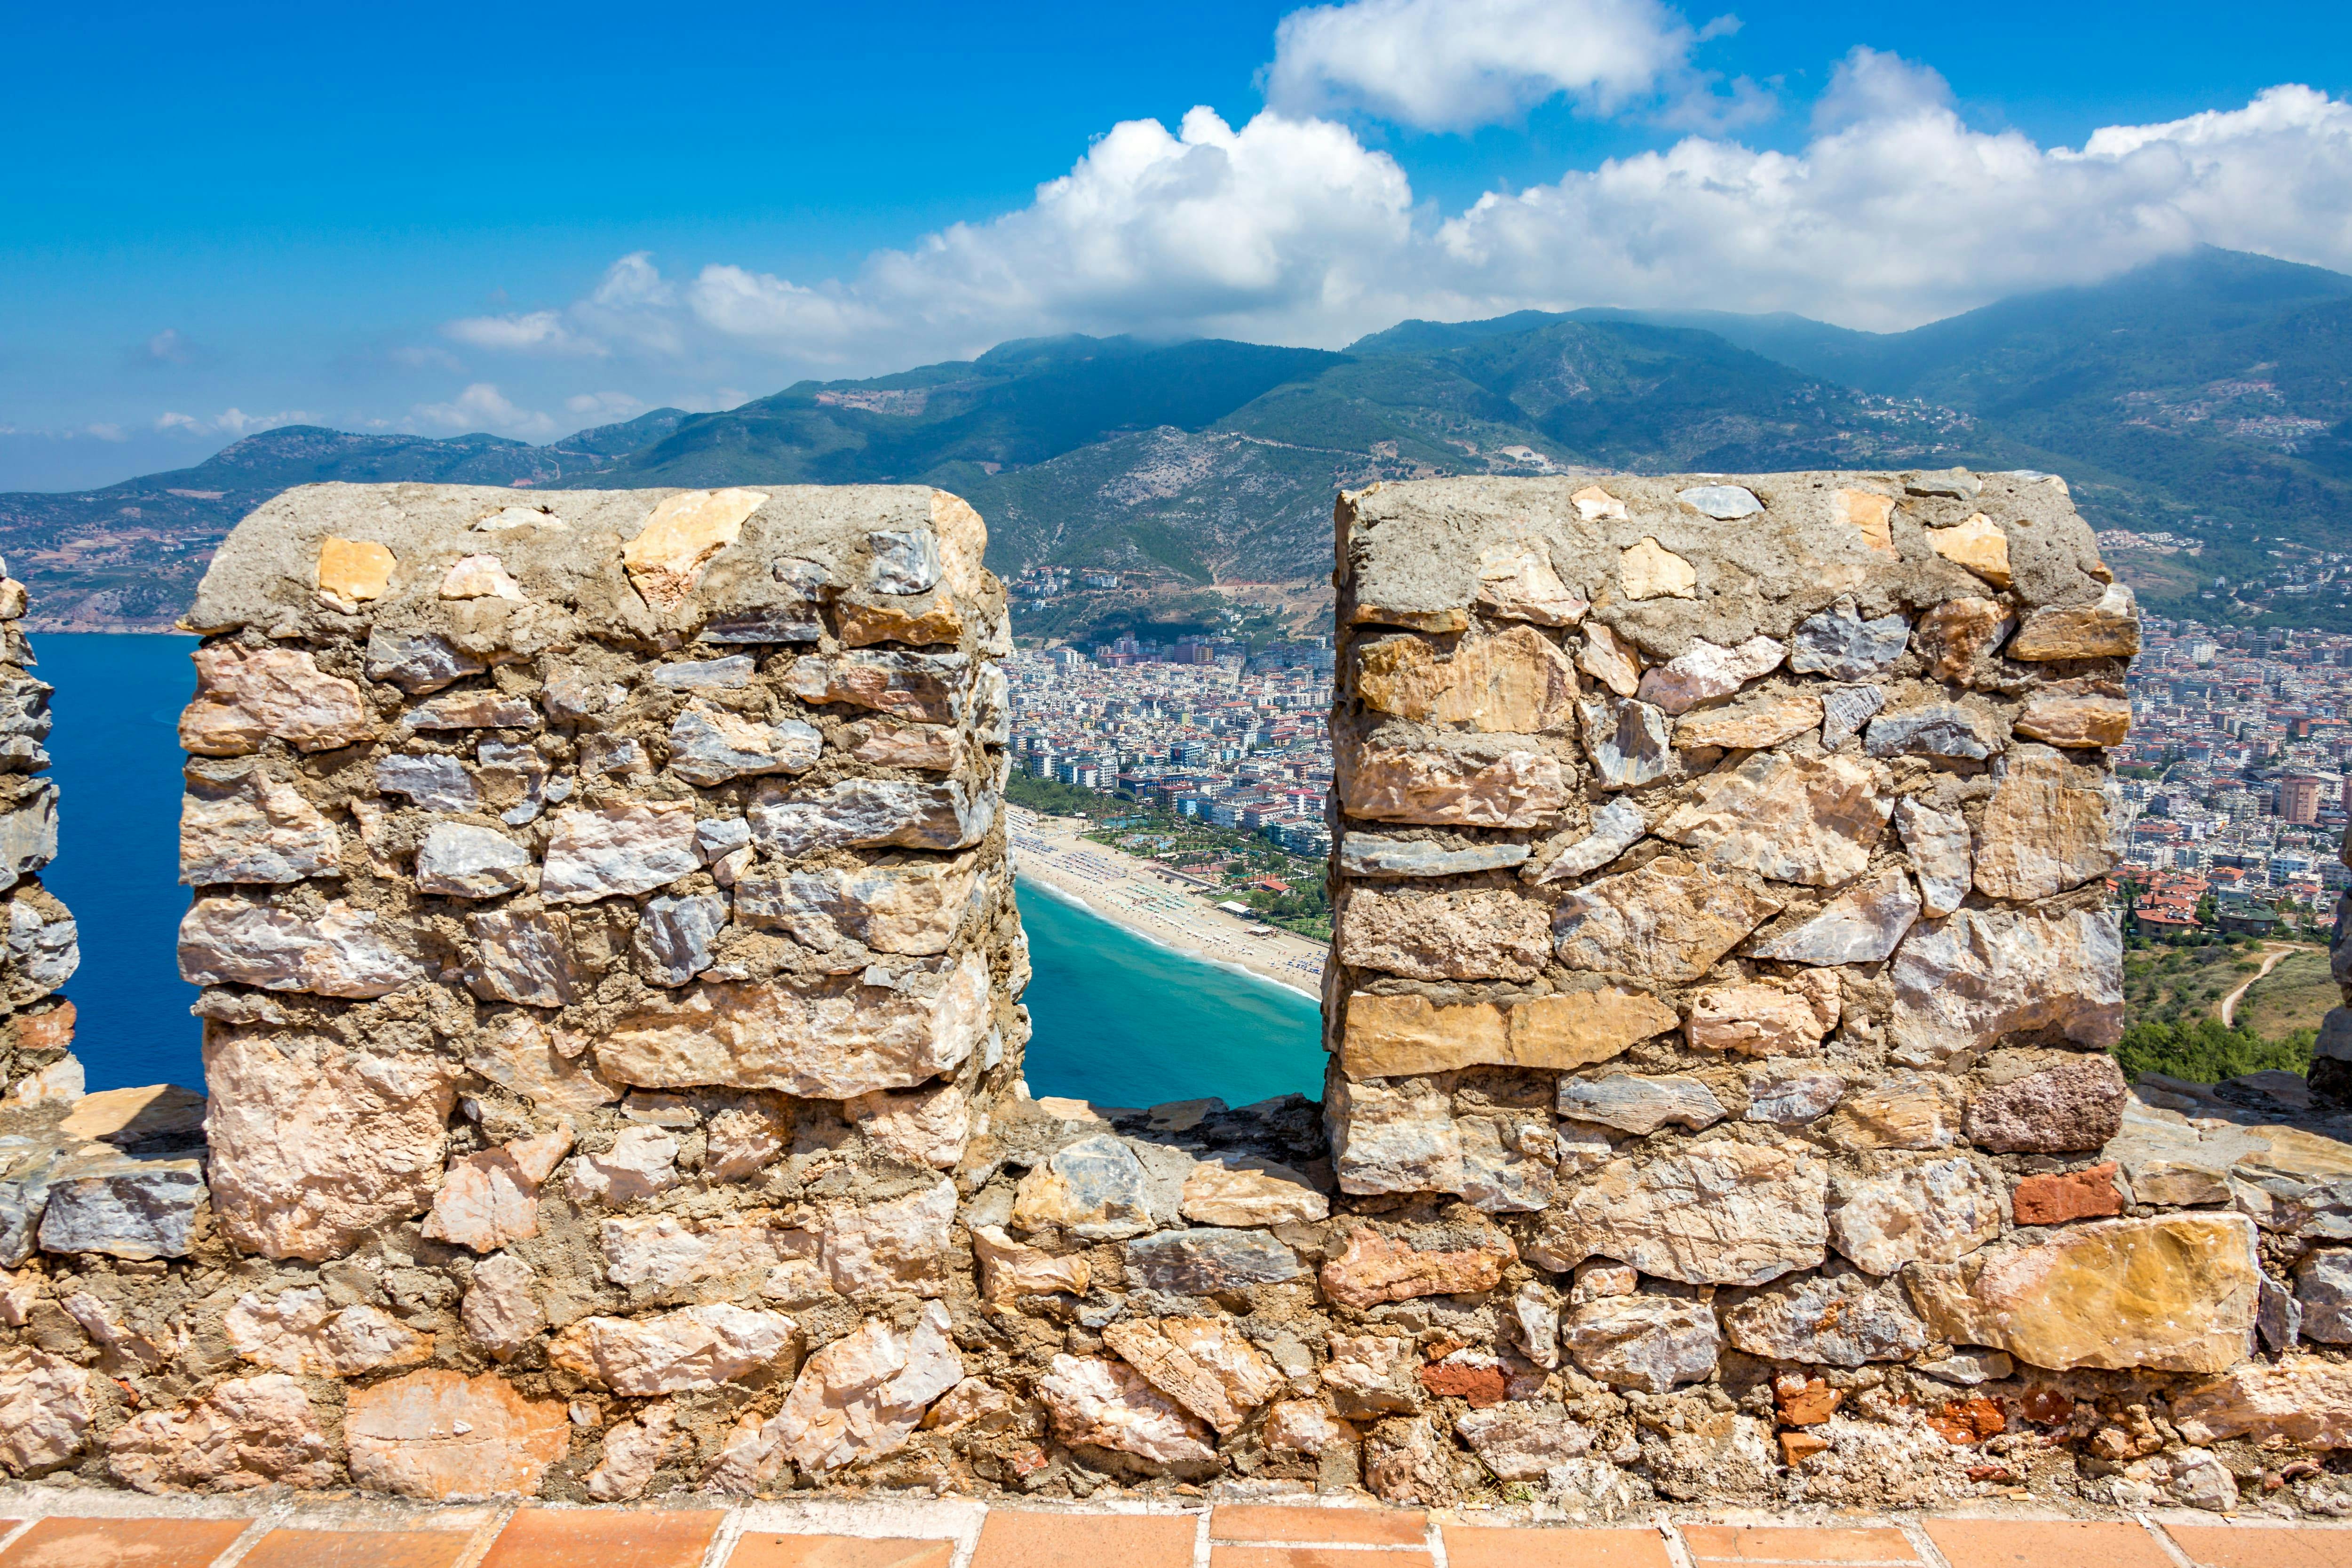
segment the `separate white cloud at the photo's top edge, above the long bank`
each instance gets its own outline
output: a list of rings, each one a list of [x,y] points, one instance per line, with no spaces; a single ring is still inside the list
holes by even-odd
[[[1275,28],[1265,101],[1291,115],[1359,108],[1418,129],[1468,132],[1566,96],[1613,115],[1668,99],[1689,118],[1769,110],[1752,82],[1708,106],[1691,68],[1703,38],[1658,0],[1348,0],[1291,12]]]

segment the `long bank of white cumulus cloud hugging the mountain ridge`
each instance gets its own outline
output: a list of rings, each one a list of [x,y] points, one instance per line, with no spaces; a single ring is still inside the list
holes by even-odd
[[[1416,19],[1416,5],[1303,12],[1284,47],[1308,59],[1289,40],[1317,16]],[[1639,16],[1656,38],[1682,26],[1663,9]],[[1456,108],[1390,113],[1472,113],[1463,106],[1536,89],[1479,78],[1475,61],[1501,59],[1494,49],[1456,56],[1472,61],[1456,73],[1468,82]],[[1675,59],[1628,45],[1628,63],[1581,80],[1632,94]],[[1369,66],[1357,75],[1369,82]],[[2274,87],[2241,108],[2044,148],[1971,127],[1936,71],[1856,49],[1795,150],[1689,134],[1454,214],[1416,205],[1397,160],[1348,125],[1287,108],[1230,125],[1195,108],[1176,129],[1115,125],[1028,205],[877,252],[847,277],[713,261],[673,280],[630,254],[562,310],[496,320],[699,381],[746,364],[842,376],[1056,331],[1336,346],[1409,315],[1519,308],[1797,310],[1898,329],[2194,244],[2352,270],[2352,103]],[[487,411],[475,423],[520,430]]]

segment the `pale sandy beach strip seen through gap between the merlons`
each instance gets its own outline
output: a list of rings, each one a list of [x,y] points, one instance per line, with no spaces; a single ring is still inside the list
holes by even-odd
[[[1152,860],[1080,837],[1089,823],[1007,806],[1014,872],[1195,959],[1232,964],[1322,999],[1324,945],[1216,907],[1218,896]]]

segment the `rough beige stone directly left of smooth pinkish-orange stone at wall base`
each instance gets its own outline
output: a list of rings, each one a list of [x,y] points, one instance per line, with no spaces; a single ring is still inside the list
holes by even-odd
[[[341,1467],[318,1410],[285,1373],[230,1378],[172,1410],[143,1410],[106,1439],[106,1467],[143,1493],[334,1486]]]

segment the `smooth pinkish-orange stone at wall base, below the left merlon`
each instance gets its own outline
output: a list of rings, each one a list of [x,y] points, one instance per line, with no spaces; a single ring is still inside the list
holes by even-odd
[[[459,1502],[532,1497],[572,1448],[562,1399],[524,1399],[496,1373],[419,1371],[353,1389],[350,1479],[367,1490]]]

